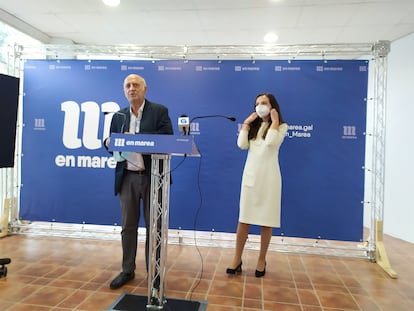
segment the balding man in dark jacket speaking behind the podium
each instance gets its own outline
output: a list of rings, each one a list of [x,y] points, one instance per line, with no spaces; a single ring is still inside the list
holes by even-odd
[[[124,93],[130,106],[113,115],[111,133],[173,134],[168,109],[145,98],[143,77],[131,74],[124,80]],[[110,138],[105,139],[108,148]],[[122,214],[122,271],[111,282],[117,289],[135,277],[140,201],[146,227],[145,261],[148,271],[151,155],[131,152],[121,154],[115,168],[115,195],[119,195]]]

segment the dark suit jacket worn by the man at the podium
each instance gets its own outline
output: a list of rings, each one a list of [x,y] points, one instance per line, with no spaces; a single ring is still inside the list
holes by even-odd
[[[131,119],[130,107],[123,108],[112,117],[110,133],[124,133],[129,131]],[[173,134],[168,108],[145,99],[144,110],[140,122],[141,134]],[[139,135],[139,134],[138,134]],[[104,144],[105,148],[106,145]],[[151,155],[143,155],[146,174],[151,174]],[[115,195],[121,191],[126,161],[117,162],[115,168]]]

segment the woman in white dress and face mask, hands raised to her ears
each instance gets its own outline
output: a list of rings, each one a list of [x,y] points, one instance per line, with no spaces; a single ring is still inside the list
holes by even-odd
[[[236,250],[233,262],[226,270],[228,274],[242,271],[242,254],[250,225],[261,226],[255,276],[262,277],[266,273],[272,228],[280,227],[282,178],[279,147],[287,128],[276,98],[269,93],[259,94],[255,112],[245,119],[237,139],[239,148],[248,149],[248,154],[241,183]]]

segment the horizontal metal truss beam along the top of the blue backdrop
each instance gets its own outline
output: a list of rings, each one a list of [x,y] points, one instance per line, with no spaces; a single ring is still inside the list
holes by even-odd
[[[274,58],[359,58],[371,55],[375,43],[313,45],[219,45],[219,46],[139,46],[139,45],[35,45],[15,46],[18,58],[87,58],[109,56],[148,59],[274,59]],[[72,56],[72,57],[70,57]]]

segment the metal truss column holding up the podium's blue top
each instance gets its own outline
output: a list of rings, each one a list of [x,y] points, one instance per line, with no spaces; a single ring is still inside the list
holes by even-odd
[[[168,244],[171,155],[151,156],[151,211],[148,255],[147,310],[162,310],[166,302],[165,280]]]

